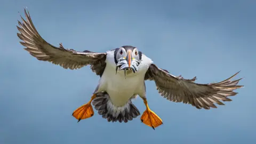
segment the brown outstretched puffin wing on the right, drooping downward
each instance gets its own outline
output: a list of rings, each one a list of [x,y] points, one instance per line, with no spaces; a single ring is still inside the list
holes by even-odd
[[[197,84],[194,83],[196,77],[184,79],[173,76],[167,70],[151,64],[145,80],[155,81],[158,92],[170,101],[189,103],[198,109],[210,109],[217,108],[214,103],[224,105],[220,100],[231,101],[227,97],[236,95],[233,90],[243,87],[237,85],[242,78],[230,81],[238,73],[219,83]]]

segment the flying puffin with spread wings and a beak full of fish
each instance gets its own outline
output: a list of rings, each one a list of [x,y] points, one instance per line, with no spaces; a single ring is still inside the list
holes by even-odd
[[[100,76],[90,101],[72,114],[78,122],[94,115],[92,105],[108,122],[132,121],[140,115],[140,111],[132,103],[132,99],[139,95],[146,106],[141,122],[155,130],[163,121],[149,108],[145,85],[147,80],[154,81],[159,94],[167,100],[189,103],[197,109],[217,108],[214,103],[225,105],[220,100],[231,101],[228,96],[236,95],[233,91],[243,87],[237,85],[242,78],[231,81],[239,71],[222,82],[210,84],[195,83],[196,77],[185,79],[171,75],[169,71],[154,65],[150,58],[134,46],[121,46],[104,53],[87,50],[78,52],[65,49],[62,44],[55,47],[38,34],[26,9],[25,14],[26,20],[21,17],[22,22],[18,21],[20,33],[17,35],[23,41],[20,43],[25,46],[24,49],[33,57],[65,69],[91,65],[92,71]]]

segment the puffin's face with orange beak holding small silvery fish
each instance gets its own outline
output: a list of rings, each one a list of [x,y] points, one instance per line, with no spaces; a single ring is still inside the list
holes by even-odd
[[[115,50],[116,71],[132,70],[133,73],[138,71],[138,66],[141,61],[141,52],[133,46],[122,46]]]

